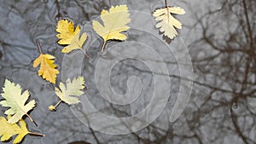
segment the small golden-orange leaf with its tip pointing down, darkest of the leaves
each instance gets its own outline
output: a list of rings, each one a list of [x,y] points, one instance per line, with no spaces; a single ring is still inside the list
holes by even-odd
[[[38,70],[38,76],[42,76],[50,83],[55,84],[56,75],[59,71],[56,69],[56,65],[54,64],[55,57],[53,55],[44,55],[41,54],[38,56],[36,60],[34,60],[34,67],[37,67],[40,64],[40,68]]]

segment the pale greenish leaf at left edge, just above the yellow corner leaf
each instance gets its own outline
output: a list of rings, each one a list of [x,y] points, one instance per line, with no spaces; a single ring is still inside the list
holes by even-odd
[[[33,107],[36,106],[36,101],[32,100],[26,104],[29,97],[29,92],[25,90],[21,93],[22,89],[19,84],[14,84],[8,79],[5,79],[2,97],[5,99],[0,101],[0,105],[3,107],[9,107],[4,114],[11,116],[8,123],[17,123],[24,115],[26,115],[30,120],[35,123],[32,118],[27,114],[31,111]],[[37,125],[37,124],[36,124]]]

